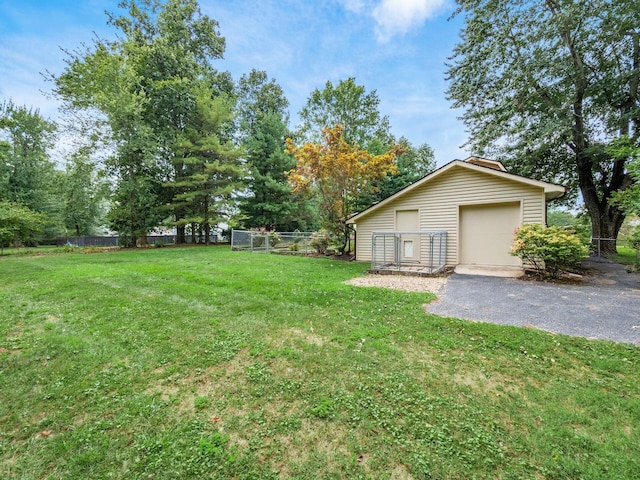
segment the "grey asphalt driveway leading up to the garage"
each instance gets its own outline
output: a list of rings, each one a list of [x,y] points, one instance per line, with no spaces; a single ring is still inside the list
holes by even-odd
[[[640,275],[592,259],[576,285],[453,274],[429,312],[640,345]]]

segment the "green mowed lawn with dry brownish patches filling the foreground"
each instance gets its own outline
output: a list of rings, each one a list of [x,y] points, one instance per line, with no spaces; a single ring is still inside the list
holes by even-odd
[[[640,348],[343,283],[367,267],[0,258],[0,478],[638,478]]]

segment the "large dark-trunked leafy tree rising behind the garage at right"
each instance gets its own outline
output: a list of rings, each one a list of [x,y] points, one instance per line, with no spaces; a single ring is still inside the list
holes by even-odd
[[[458,0],[465,27],[448,95],[481,155],[579,190],[594,237],[615,238],[609,199],[632,179],[607,146],[640,135],[640,9],[633,0]],[[615,245],[609,245],[614,249]]]

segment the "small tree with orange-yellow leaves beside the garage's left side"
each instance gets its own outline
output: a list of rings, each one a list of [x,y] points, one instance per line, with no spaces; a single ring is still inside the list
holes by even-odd
[[[340,253],[349,243],[347,219],[354,213],[358,198],[376,190],[376,183],[397,172],[395,158],[402,153],[393,145],[382,155],[372,155],[357,145],[349,145],[343,125],[322,130],[321,143],[296,146],[287,139],[287,152],[296,159],[296,168],[287,173],[293,191],[314,189],[320,200],[322,225],[341,238]]]

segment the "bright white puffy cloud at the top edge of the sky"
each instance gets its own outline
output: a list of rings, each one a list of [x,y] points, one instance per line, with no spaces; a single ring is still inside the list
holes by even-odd
[[[420,27],[425,20],[438,15],[448,0],[382,0],[373,9],[376,36],[381,42]]]

